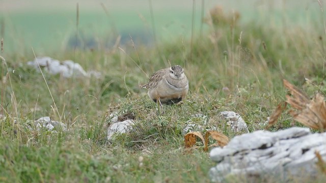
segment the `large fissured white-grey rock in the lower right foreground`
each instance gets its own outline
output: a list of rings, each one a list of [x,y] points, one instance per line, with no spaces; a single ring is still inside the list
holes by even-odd
[[[212,181],[219,182],[230,175],[259,178],[266,176],[266,172],[274,178],[281,177],[280,181],[314,176],[318,172],[315,151],[326,159],[325,139],[326,133],[311,134],[308,128],[299,127],[239,135],[224,148],[210,151],[210,158],[218,165],[209,174]]]

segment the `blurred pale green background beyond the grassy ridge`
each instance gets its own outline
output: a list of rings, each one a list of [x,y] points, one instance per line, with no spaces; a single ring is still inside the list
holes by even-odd
[[[225,12],[239,12],[241,23],[283,28],[292,24],[313,28],[311,22],[320,24],[326,15],[318,1],[311,0],[0,0],[0,37],[6,53],[30,51],[32,47],[38,53],[76,47],[110,49],[117,42],[130,44],[130,38],[145,46],[171,40],[181,43],[192,35],[205,36],[207,24],[203,20],[216,5]]]

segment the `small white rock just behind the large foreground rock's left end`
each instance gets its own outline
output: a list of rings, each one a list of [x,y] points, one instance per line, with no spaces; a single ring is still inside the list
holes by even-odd
[[[234,132],[249,132],[246,122],[242,119],[242,117],[233,111],[223,111],[220,112],[222,116],[224,116],[228,121],[227,124],[231,126],[232,131]]]

